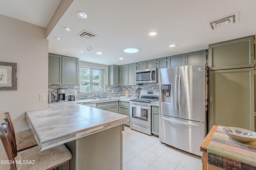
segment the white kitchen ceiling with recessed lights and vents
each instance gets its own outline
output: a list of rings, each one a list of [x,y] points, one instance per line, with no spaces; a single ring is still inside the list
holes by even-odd
[[[1,0],[0,14],[47,27],[60,2]],[[88,17],[78,18],[78,11]],[[206,22],[235,12],[239,12],[239,22],[208,29]],[[74,0],[46,38],[49,53],[90,63],[122,65],[208,49],[212,43],[254,35],[255,16],[255,0]],[[98,36],[81,38],[77,35],[82,30]],[[159,34],[148,36],[152,30]],[[170,48],[173,43],[178,46]],[[88,46],[92,51],[87,50]],[[125,47],[138,47],[140,51],[124,53]]]

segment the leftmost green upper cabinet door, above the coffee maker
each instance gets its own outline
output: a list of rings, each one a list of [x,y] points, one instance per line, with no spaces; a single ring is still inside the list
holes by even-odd
[[[61,84],[62,57],[55,54],[49,54],[48,57],[48,84]]]

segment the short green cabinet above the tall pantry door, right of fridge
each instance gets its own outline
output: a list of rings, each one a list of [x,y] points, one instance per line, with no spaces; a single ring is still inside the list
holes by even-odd
[[[254,36],[209,45],[210,70],[254,66]]]

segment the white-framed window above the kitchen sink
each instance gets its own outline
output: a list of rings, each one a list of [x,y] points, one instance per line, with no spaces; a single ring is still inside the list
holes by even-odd
[[[104,70],[80,66],[80,92],[98,92],[103,88]]]

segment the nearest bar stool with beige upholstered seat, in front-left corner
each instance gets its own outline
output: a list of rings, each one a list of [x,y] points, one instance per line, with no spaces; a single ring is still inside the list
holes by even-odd
[[[70,170],[72,154],[64,144],[42,151],[40,151],[39,147],[33,147],[18,156],[14,156],[16,152],[12,144],[14,141],[10,137],[11,134],[7,124],[2,123],[0,126],[0,139],[8,161],[12,162],[10,170],[52,170],[62,164],[67,164],[67,170]]]

